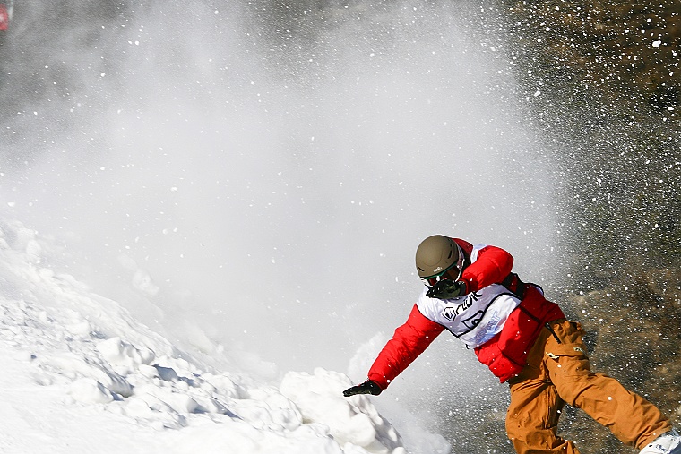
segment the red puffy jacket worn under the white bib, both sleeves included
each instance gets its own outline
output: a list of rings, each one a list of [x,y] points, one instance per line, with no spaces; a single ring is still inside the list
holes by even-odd
[[[459,238],[453,240],[461,246],[470,261],[473,245]],[[500,381],[504,382],[522,371],[528,351],[547,323],[565,318],[557,304],[551,303],[539,290],[523,284],[511,274],[513,256],[496,246],[485,246],[478,251],[476,261],[463,270],[461,280],[469,292],[475,292],[491,284],[504,284],[522,296],[521,303],[509,315],[504,328],[494,338],[475,348],[478,360],[486,364]],[[517,288],[521,286],[522,288]],[[444,326],[427,319],[414,305],[409,318],[395,330],[376,358],[368,373],[382,389],[414,361],[444,330]]]

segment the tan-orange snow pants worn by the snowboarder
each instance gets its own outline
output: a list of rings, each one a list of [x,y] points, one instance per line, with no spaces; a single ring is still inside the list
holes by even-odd
[[[629,446],[642,449],[671,430],[650,402],[625,390],[614,378],[592,373],[579,323],[548,323],[530,349],[527,364],[511,385],[506,433],[519,454],[579,454],[572,441],[557,436],[565,403],[582,408]]]

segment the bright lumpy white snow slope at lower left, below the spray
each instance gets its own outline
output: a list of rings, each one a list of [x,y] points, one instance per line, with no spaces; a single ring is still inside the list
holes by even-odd
[[[0,228],[1,452],[407,452],[371,398],[342,398],[346,375],[217,370],[54,270],[54,238]]]

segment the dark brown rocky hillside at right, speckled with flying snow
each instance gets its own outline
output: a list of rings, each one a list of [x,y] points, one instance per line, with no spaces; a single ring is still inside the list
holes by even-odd
[[[543,93],[527,115],[561,167],[568,311],[590,332],[595,369],[678,424],[679,4],[501,4],[522,90]],[[632,452],[582,412],[563,425],[585,453]]]

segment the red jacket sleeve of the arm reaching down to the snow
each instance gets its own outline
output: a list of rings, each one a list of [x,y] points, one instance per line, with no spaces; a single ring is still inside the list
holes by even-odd
[[[378,354],[369,370],[368,378],[382,390],[409,366],[444,330],[444,326],[427,319],[418,307],[409,313],[409,319],[392,335]]]

